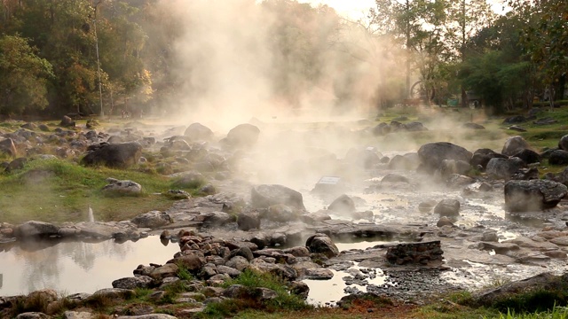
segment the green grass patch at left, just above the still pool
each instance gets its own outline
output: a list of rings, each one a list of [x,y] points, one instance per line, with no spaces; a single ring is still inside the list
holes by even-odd
[[[138,196],[107,196],[106,178],[140,183]],[[121,221],[171,206],[160,195],[172,188],[162,175],[106,167],[82,167],[61,159],[36,159],[12,174],[0,175],[0,222],[82,222],[91,206],[97,221]],[[192,191],[192,190],[187,190]]]

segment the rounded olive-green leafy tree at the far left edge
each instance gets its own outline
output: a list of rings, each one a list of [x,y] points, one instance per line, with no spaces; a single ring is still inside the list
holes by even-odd
[[[22,114],[48,105],[51,65],[18,35],[0,37],[0,112]]]

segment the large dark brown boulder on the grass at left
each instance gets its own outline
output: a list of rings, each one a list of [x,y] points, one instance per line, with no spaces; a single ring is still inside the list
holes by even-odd
[[[122,144],[101,143],[91,145],[81,159],[86,166],[104,165],[106,167],[130,167],[142,156],[142,145],[131,142]]]

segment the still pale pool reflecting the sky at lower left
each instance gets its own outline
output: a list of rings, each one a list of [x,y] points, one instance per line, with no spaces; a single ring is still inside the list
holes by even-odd
[[[164,246],[158,237],[146,237],[136,243],[0,245],[0,250],[0,296],[12,296],[43,288],[64,294],[111,288],[115,279],[133,276],[132,270],[139,264],[169,261],[179,246]]]

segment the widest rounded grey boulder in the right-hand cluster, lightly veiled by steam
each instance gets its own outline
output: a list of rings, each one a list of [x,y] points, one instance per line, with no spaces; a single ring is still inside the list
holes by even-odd
[[[436,171],[444,159],[463,160],[469,163],[472,156],[473,154],[463,147],[447,142],[424,144],[418,150],[422,167],[430,173]]]

